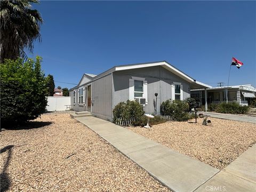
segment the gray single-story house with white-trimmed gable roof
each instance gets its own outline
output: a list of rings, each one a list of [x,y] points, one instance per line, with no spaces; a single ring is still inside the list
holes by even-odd
[[[166,61],[115,66],[99,75],[84,74],[77,86],[69,91],[71,107],[76,111],[91,111],[92,115],[111,120],[117,103],[137,100],[146,113],[157,113],[167,99],[190,97],[190,89],[211,86],[189,77]]]

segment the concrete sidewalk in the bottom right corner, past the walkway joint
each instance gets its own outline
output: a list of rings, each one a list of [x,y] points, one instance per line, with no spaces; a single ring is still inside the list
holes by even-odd
[[[201,191],[256,191],[256,145],[196,190]]]

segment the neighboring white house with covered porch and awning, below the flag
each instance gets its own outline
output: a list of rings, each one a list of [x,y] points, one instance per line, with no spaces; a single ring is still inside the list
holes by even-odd
[[[226,102],[227,86],[212,87],[207,89],[207,102]],[[228,102],[238,102],[240,105],[250,105],[251,99],[255,98],[256,88],[252,85],[228,86]],[[191,98],[196,99],[199,105],[205,105],[205,90],[191,90]]]

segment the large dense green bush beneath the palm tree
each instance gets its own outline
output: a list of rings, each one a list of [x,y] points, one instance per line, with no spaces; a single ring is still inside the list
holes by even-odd
[[[17,125],[44,113],[47,87],[41,60],[8,59],[0,65],[2,125]]]

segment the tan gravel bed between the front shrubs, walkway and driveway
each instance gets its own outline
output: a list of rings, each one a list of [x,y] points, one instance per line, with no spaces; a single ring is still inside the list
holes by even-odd
[[[131,131],[196,158],[217,169],[223,169],[256,141],[256,124],[209,118],[212,125],[166,122],[150,129],[128,127]]]

